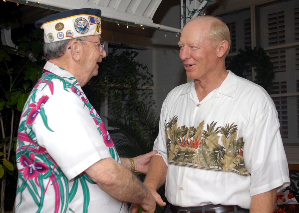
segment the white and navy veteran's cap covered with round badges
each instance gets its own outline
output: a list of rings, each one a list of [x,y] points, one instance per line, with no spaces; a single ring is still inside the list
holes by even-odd
[[[36,21],[45,43],[101,34],[101,10],[82,8],[52,14]]]

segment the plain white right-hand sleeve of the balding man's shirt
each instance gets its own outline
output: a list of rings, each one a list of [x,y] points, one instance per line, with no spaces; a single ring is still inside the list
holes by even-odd
[[[251,174],[250,195],[289,185],[289,170],[277,111],[270,106],[244,136],[244,161]]]

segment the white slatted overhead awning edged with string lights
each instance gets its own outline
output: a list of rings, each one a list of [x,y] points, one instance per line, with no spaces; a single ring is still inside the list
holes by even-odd
[[[7,0],[27,4],[26,0]],[[124,22],[152,27],[159,30],[180,33],[181,29],[153,23],[154,16],[162,0],[30,0],[33,6],[55,10],[97,8],[105,20]],[[166,0],[164,0],[166,1]],[[40,2],[40,3],[38,3]],[[180,16],[180,14],[178,14]]]

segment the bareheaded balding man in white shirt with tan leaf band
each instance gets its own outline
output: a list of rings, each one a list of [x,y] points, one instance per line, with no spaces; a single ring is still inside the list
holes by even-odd
[[[230,34],[218,18],[189,21],[179,48],[194,80],[163,103],[144,184],[163,206],[156,190],[166,181],[167,213],[274,212],[276,191],[290,180],[272,99],[225,69]]]

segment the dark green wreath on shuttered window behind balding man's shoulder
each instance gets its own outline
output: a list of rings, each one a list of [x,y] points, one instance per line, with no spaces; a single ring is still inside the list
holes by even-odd
[[[251,63],[256,73],[254,83],[260,85],[269,93],[274,79],[273,64],[270,56],[267,55],[262,47],[254,47],[254,49],[245,47],[245,50],[239,49],[238,55],[231,59],[229,70],[245,78],[243,73],[249,68],[248,62]]]

